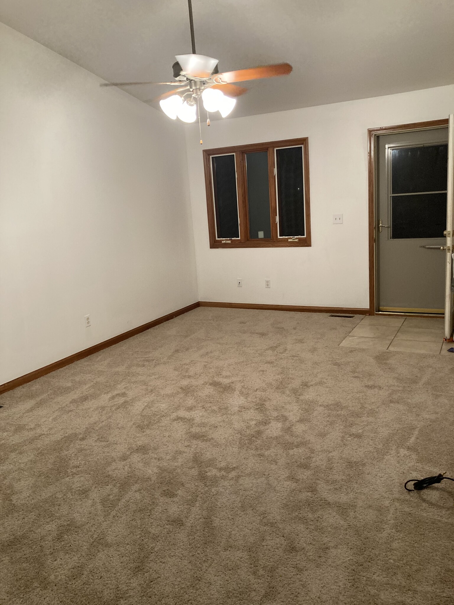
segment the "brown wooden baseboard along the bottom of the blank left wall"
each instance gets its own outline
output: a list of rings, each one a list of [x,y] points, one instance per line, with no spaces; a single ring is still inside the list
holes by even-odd
[[[188,311],[192,311],[192,309],[197,309],[199,307],[199,302],[194,302],[187,307],[183,307],[182,309],[178,309],[173,313],[168,313],[168,315],[163,315],[157,319],[153,319],[153,321],[149,321],[146,324],[139,325],[137,328],[133,328],[132,330],[128,330],[128,332],[123,332],[118,336],[114,336],[113,338],[109,338],[107,341],[99,342],[98,344],[93,345],[93,347],[84,348],[83,351],[79,351],[79,353],[74,353],[64,359],[60,359],[59,361],[54,361],[53,364],[45,365],[44,368],[39,368],[38,370],[34,370],[28,374],[24,374],[24,376],[19,376],[19,378],[15,378],[12,381],[5,382],[0,385],[0,394],[6,393],[7,391],[13,390],[13,388],[20,387],[22,384],[27,384],[27,382],[31,382],[36,378],[41,378],[41,376],[45,376],[45,374],[49,374],[54,370],[59,370],[59,368],[64,368],[65,365],[73,364],[74,361],[79,361],[79,359],[84,359],[84,357],[88,357],[89,355],[93,355],[93,353],[98,353],[102,351],[104,348],[111,347],[118,342],[122,342],[123,340],[127,340],[131,338],[131,336],[136,336],[140,334],[140,332],[145,332],[145,330],[150,330],[150,328],[154,328],[156,325],[163,324],[165,321],[169,321],[169,319],[174,319],[179,315],[183,315],[183,313],[187,313]]]

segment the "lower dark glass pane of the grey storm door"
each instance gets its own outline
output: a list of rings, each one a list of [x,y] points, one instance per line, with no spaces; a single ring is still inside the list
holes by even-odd
[[[393,240],[443,237],[446,229],[446,198],[446,193],[393,195]]]

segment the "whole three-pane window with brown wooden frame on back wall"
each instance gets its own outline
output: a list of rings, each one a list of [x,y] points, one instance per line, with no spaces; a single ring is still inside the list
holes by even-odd
[[[311,246],[308,139],[203,151],[211,248]]]

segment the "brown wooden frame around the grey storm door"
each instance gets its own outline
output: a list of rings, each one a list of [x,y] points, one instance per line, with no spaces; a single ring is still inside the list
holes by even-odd
[[[397,132],[410,132],[416,130],[428,130],[430,128],[442,128],[448,126],[449,120],[431,120],[430,122],[413,122],[410,124],[399,124],[396,126],[381,126],[380,128],[367,129],[368,144],[368,176],[369,176],[369,315],[375,315],[375,208],[377,180],[375,178],[375,151],[377,136],[383,134],[396,134]],[[382,315],[382,313],[380,313]],[[390,315],[383,313],[383,315]],[[405,315],[400,313],[400,315]],[[414,317],[415,315],[412,314]]]

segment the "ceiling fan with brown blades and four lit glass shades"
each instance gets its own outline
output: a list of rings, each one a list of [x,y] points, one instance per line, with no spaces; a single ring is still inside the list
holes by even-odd
[[[217,67],[218,59],[213,59],[203,54],[196,54],[191,0],[188,0],[188,9],[192,54],[176,55],[175,58],[177,61],[172,66],[175,82],[106,82],[100,84],[100,86],[178,85],[179,88],[174,88],[156,97],[156,99],[150,99],[145,102],[159,100],[162,111],[171,119],[175,120],[179,117],[183,122],[195,122],[197,119],[196,106],[199,106],[200,98],[207,114],[208,112],[219,111],[222,117],[226,117],[235,106],[235,97],[245,94],[248,90],[247,88],[236,86],[233,82],[285,76],[291,73],[292,66],[288,63],[262,65],[245,70],[219,73]],[[209,126],[209,118],[207,119],[207,124]],[[202,134],[200,136],[200,144],[202,144]]]

